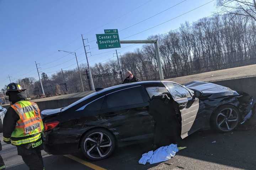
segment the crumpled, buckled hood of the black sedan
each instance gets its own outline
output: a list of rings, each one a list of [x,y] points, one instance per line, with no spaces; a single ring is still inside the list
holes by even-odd
[[[192,81],[185,84],[188,89],[199,90],[203,92],[203,96],[208,98],[219,98],[223,96],[237,96],[238,92],[231,90],[229,87],[221,86],[214,83],[207,83],[202,81]]]

